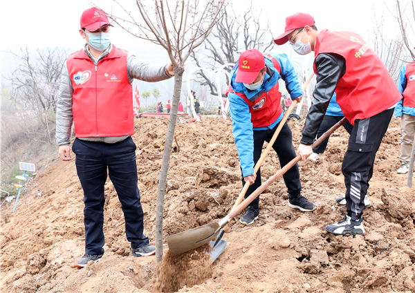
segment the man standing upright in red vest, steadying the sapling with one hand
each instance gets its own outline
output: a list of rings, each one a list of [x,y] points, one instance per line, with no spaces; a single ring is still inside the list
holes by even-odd
[[[80,19],[84,48],[66,59],[57,100],[56,141],[59,156],[73,152],[84,190],[85,254],[74,267],[97,263],[104,254],[104,185],[109,178],[118,193],[125,218],[125,234],[133,256],[155,253],[143,234],[143,211],[138,191],[133,125],[133,79],[158,82],[174,75],[172,64],[151,66],[111,44],[111,24],[99,8],[89,8]]]

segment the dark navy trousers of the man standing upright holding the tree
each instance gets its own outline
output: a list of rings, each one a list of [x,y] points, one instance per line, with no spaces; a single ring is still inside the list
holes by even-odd
[[[85,253],[104,253],[102,227],[107,169],[122,205],[125,234],[131,247],[149,244],[149,238],[142,234],[144,214],[137,187],[136,144],[133,139],[106,144],[76,138],[72,150],[76,154],[77,175],[84,189]]]

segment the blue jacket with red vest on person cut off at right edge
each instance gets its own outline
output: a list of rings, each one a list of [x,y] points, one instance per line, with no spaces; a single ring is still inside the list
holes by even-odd
[[[403,99],[395,107],[395,117],[402,114],[415,116],[415,62],[405,64],[400,70],[398,90]]]

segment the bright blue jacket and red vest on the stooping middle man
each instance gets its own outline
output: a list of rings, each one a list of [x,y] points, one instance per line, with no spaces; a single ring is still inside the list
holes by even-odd
[[[272,57],[274,58],[274,62],[279,64],[279,70],[278,68],[275,68]],[[230,90],[228,90],[228,99],[230,101],[230,115],[232,117],[232,132],[235,144],[237,145],[239,162],[241,163],[244,177],[253,175],[254,173],[253,131],[273,129],[275,125],[282,120],[282,117],[284,117],[281,105],[279,104],[279,99],[277,98],[281,98],[281,93],[274,93],[275,89],[278,91],[279,79],[282,78],[285,81],[286,88],[288,93],[290,93],[292,100],[295,100],[297,97],[304,94],[304,91],[302,91],[299,86],[297,73],[295,73],[293,64],[291,64],[291,61],[286,54],[268,52],[264,58],[269,71],[267,71],[264,77],[263,84],[255,91],[249,91],[243,83],[234,81],[237,76],[238,64],[236,64],[230,72]],[[261,92],[264,92],[265,95],[261,94]],[[270,93],[274,97],[273,103],[269,104],[268,102],[261,102],[264,97],[269,97]],[[256,96],[257,99],[251,101],[252,98],[255,98]],[[266,113],[264,110],[268,108],[271,109],[266,113],[266,120],[268,122],[261,119],[261,117],[257,117],[257,115],[253,113],[259,110],[259,106],[261,107],[261,113]]]

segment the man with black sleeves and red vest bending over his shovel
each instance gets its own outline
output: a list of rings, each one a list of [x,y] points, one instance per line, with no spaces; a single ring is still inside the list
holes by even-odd
[[[342,164],[347,215],[325,229],[336,235],[365,234],[362,214],[375,155],[400,93],[382,60],[354,32],[318,32],[311,15],[297,13],[286,18],[284,33],[274,41],[277,45],[289,41],[300,55],[315,52],[317,84],[298,148],[302,160],[313,153],[311,144],[333,93],[353,125]]]

